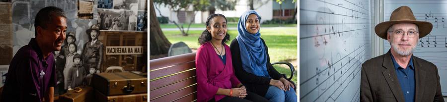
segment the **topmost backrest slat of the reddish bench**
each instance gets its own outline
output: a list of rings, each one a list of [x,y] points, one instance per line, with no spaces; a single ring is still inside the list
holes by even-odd
[[[179,58],[181,57],[181,58]],[[149,70],[196,60],[196,52],[149,60]]]

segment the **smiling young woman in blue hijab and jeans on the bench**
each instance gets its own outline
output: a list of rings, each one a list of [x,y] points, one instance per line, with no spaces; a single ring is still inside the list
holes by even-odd
[[[247,91],[264,96],[270,102],[297,102],[295,86],[270,63],[267,45],[259,33],[260,20],[254,10],[244,12],[239,18],[239,34],[230,45],[236,77]]]

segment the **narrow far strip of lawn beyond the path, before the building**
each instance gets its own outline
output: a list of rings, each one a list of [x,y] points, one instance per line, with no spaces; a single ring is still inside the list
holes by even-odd
[[[181,26],[181,24],[179,24]],[[261,24],[261,27],[297,27],[297,24]],[[228,23],[228,27],[237,27],[237,23]],[[175,24],[160,24],[160,28],[177,28]],[[183,28],[188,28],[188,24],[184,24]],[[205,24],[191,24],[190,28],[205,28]]]

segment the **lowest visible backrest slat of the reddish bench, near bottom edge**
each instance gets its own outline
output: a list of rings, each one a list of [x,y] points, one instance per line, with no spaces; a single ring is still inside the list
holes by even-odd
[[[171,93],[169,95],[157,98],[157,99],[152,99],[150,98],[150,101],[152,102],[171,102],[174,101],[175,99],[184,97],[185,95],[188,95],[192,92],[195,92],[197,90],[197,84],[188,88],[185,88],[183,90]],[[150,96],[152,96],[152,93],[150,93]]]

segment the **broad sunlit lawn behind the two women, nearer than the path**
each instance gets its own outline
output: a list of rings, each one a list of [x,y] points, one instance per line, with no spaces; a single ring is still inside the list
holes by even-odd
[[[165,25],[166,26],[166,25]],[[203,27],[203,25],[201,25]],[[177,42],[184,42],[192,49],[197,49],[200,45],[198,38],[202,34],[203,30],[189,31],[188,36],[182,36],[180,31],[163,31],[166,38],[172,44]],[[230,35],[230,41],[227,42],[229,46],[230,42],[237,36],[237,30],[228,30]],[[297,34],[296,28],[261,28],[261,38],[263,38],[269,47],[270,62],[278,61],[290,61],[297,59]],[[292,63],[294,66],[298,66],[297,63]],[[286,73],[290,76],[289,68],[280,68],[281,66],[275,66],[280,73]],[[297,71],[295,71],[297,73]],[[293,77],[295,83],[297,83],[296,74]]]

